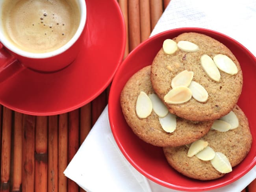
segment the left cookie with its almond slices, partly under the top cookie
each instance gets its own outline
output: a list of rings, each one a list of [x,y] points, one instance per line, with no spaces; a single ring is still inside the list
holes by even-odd
[[[192,122],[174,115],[169,118],[172,114],[165,105],[154,105],[157,98],[152,98],[153,93],[150,66],[146,66],[127,81],[120,97],[122,113],[127,124],[135,135],[145,142],[155,146],[181,146],[197,140],[210,130],[213,121]],[[159,101],[161,102],[160,99]],[[150,102],[153,104],[149,105]],[[165,118],[167,121],[163,120]]]

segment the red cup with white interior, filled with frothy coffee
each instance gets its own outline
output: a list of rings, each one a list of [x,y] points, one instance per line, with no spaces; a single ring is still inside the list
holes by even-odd
[[[70,65],[83,51],[86,15],[85,0],[0,0],[0,82]]]

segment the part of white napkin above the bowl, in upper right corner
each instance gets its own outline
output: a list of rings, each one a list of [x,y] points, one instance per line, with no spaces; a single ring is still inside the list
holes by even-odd
[[[151,35],[181,27],[219,31],[256,55],[255,0],[171,0]]]

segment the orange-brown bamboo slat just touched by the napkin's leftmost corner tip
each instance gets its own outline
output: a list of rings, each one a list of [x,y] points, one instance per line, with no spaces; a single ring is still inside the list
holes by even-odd
[[[68,114],[59,115],[58,135],[58,188],[61,192],[67,192],[67,177],[63,174],[68,165]]]

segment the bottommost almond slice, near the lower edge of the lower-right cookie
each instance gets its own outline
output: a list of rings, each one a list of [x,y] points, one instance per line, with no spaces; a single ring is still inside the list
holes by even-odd
[[[211,159],[211,165],[223,174],[232,172],[232,166],[228,158],[221,152],[215,152],[215,157]]]

